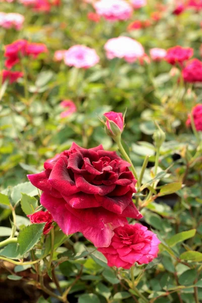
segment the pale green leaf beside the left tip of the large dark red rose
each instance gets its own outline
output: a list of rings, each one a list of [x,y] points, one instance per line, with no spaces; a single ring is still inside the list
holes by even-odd
[[[11,193],[11,198],[14,202],[18,202],[21,199],[21,193],[27,193],[30,196],[35,196],[38,194],[37,188],[32,185],[30,182],[20,183],[14,186],[13,191]]]

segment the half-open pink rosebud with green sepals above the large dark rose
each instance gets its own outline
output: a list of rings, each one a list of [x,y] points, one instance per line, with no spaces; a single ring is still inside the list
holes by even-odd
[[[123,132],[124,118],[122,113],[109,112],[105,113],[104,116],[107,118],[106,127],[112,135]]]

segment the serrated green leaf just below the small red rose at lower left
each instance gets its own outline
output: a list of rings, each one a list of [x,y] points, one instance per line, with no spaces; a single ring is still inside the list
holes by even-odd
[[[20,254],[22,256],[40,240],[44,226],[45,223],[31,224],[20,231],[18,243],[20,245]]]

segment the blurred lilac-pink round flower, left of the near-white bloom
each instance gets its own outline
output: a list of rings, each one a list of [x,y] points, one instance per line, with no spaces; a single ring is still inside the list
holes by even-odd
[[[68,49],[64,57],[65,64],[76,68],[89,68],[99,62],[93,48],[84,45],[74,45]]]

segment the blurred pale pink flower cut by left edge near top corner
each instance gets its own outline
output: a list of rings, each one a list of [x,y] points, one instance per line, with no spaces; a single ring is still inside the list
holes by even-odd
[[[1,13],[0,12],[0,26],[9,29],[15,28],[16,30],[20,30],[23,26],[23,22],[25,17],[23,15],[17,13]]]

